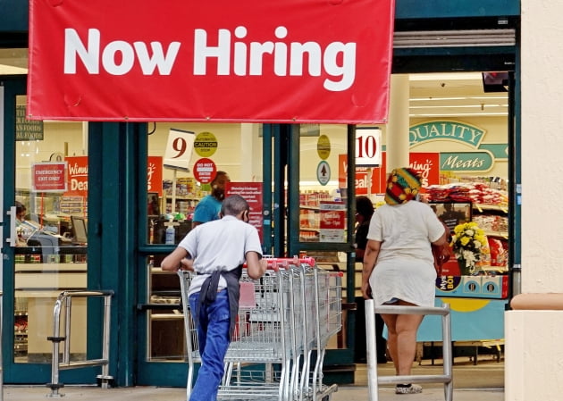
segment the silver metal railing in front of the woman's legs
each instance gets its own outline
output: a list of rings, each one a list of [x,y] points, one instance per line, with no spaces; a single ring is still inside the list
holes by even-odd
[[[433,314],[441,315],[443,374],[426,374],[410,376],[382,376],[377,375],[376,345],[375,345],[375,313],[383,314]],[[367,352],[367,388],[369,400],[378,400],[379,384],[398,384],[417,381],[421,383],[444,383],[444,397],[446,401],[453,399],[453,375],[451,352],[451,321],[450,305],[441,307],[380,305],[375,307],[374,300],[366,300],[366,352]]]

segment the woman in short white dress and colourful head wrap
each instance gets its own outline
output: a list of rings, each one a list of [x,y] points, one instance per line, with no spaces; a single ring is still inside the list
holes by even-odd
[[[362,295],[375,305],[433,306],[436,271],[431,243],[442,245],[447,234],[436,214],[416,200],[420,180],[416,171],[399,168],[387,180],[385,203],[370,222],[362,272]],[[416,331],[424,316],[382,314],[387,346],[399,376],[411,374]],[[416,394],[422,388],[398,384],[397,394]]]

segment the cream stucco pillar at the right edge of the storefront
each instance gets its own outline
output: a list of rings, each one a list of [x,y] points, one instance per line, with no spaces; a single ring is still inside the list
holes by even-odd
[[[562,293],[563,52],[559,0],[521,0],[522,292]],[[558,50],[559,49],[559,50]],[[505,316],[505,400],[556,400],[563,394],[563,311]]]

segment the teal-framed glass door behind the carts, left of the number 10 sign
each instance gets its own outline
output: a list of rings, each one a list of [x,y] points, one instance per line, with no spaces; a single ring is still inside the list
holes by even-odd
[[[342,327],[328,340],[326,382],[353,381],[357,281],[353,232],[355,128],[336,124],[292,127],[288,167],[288,252],[315,258],[317,267],[343,273]],[[361,267],[360,267],[361,269]],[[357,295],[357,294],[356,294]],[[331,365],[339,365],[332,373]]]

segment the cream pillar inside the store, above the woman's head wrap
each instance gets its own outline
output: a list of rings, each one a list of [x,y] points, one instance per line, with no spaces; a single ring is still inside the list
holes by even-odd
[[[391,75],[389,123],[386,129],[387,171],[408,166],[408,75]]]

